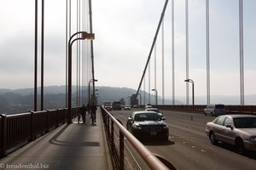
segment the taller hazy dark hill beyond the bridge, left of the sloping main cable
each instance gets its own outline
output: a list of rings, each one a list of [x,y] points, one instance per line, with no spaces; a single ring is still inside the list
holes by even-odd
[[[80,88],[80,96],[84,96],[84,101],[88,101],[88,88]],[[91,90],[91,88],[90,88]],[[85,91],[85,93],[84,93]],[[77,87],[73,86],[73,105],[76,105]],[[91,93],[91,91],[90,91]],[[128,96],[135,94],[136,90],[131,88],[110,88],[96,87],[96,94],[99,94],[98,103],[105,101],[124,99],[128,101]],[[86,95],[84,95],[86,94]],[[41,88],[38,88],[38,107],[40,105]],[[32,111],[34,105],[34,89],[7,89],[0,88],[0,113],[20,113]],[[82,100],[82,99],[81,99]],[[66,106],[66,86],[44,87],[44,109],[63,108]]]

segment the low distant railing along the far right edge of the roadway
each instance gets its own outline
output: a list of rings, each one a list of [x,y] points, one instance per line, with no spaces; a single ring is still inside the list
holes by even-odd
[[[198,111],[203,112],[207,105],[154,105],[160,110]],[[140,105],[140,107],[144,107]],[[227,114],[253,114],[256,115],[256,105],[225,105]]]

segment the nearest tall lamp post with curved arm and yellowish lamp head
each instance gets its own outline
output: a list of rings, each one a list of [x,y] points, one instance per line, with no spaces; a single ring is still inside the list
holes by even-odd
[[[73,39],[76,35],[81,35],[81,37],[77,37]],[[86,31],[78,31],[73,34],[72,37],[69,38],[68,41],[68,105],[67,105],[67,123],[72,123],[72,114],[71,114],[71,106],[72,106],[72,44],[77,40],[94,40],[95,36],[93,33],[87,33]],[[73,39],[73,40],[72,40]]]

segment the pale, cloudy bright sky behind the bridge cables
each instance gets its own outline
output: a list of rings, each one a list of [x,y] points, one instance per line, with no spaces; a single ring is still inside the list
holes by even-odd
[[[189,78],[195,82],[195,96],[207,94],[205,2],[205,0],[189,1]],[[98,79],[96,86],[137,90],[164,3],[164,0],[92,1],[93,31],[96,35],[94,41],[95,75]],[[244,92],[248,95],[256,94],[256,34],[254,33],[256,1],[244,0],[243,5]],[[75,6],[76,1],[73,1],[72,7]],[[184,96],[186,95],[185,0],[174,0],[174,8],[175,95]],[[240,95],[238,8],[239,0],[210,1],[211,95]],[[166,97],[172,96],[171,9],[172,0],[167,5],[164,19],[164,95]],[[45,0],[45,86],[65,85],[66,82],[65,12],[66,0]],[[0,88],[32,88],[34,1],[0,0],[0,13]],[[73,14],[73,18],[75,15]],[[72,27],[72,32],[75,32],[75,26]],[[160,96],[163,93],[162,42],[162,28],[160,28],[156,49],[150,61],[150,83],[147,71],[146,83],[142,86],[146,91],[152,88],[158,89]],[[40,53],[40,48],[38,50]],[[156,56],[156,68],[154,68],[154,56]],[[154,87],[154,69],[156,87]]]

